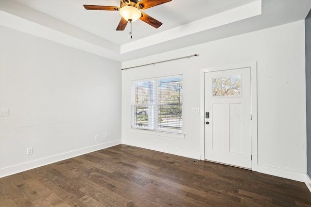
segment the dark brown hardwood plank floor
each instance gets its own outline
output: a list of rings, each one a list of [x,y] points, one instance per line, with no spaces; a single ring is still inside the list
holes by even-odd
[[[117,145],[0,178],[0,207],[311,207],[305,183]]]

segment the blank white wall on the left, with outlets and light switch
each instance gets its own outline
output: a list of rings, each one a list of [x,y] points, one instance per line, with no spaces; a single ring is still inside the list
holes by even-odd
[[[121,143],[120,68],[0,26],[0,177]]]

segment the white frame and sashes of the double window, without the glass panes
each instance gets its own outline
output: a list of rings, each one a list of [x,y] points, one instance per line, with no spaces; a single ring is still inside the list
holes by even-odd
[[[158,82],[159,80],[166,80],[166,79],[175,79],[179,78],[181,79],[181,82],[183,81],[182,75],[174,75],[174,76],[165,76],[165,77],[158,77],[158,78],[151,78],[151,79],[143,79],[143,80],[133,80],[131,82],[131,128],[135,129],[143,129],[143,130],[149,130],[149,131],[157,131],[157,132],[168,132],[168,133],[175,133],[175,134],[182,134],[183,131],[183,121],[182,121],[182,98],[180,100],[180,103],[161,103],[159,104],[159,95],[158,95]],[[153,81],[154,86],[153,86],[153,98],[154,98],[154,103],[148,103],[148,104],[137,104],[135,103],[135,83],[138,82],[147,82],[147,81]],[[179,92],[181,94],[180,97],[183,95],[183,84],[179,87]],[[149,97],[148,97],[149,100]],[[178,105],[179,106],[179,112],[178,112],[178,127],[180,128],[179,130],[170,130],[170,129],[164,129],[159,127],[159,107],[161,106],[172,106],[172,105]],[[137,106],[146,106],[146,107],[153,107],[152,109],[152,114],[148,112],[148,121],[149,118],[151,117],[151,124],[152,126],[148,127],[139,127],[136,124],[136,115],[137,111],[135,110],[135,107]],[[135,114],[136,113],[136,114]],[[149,125],[149,124],[148,124]]]

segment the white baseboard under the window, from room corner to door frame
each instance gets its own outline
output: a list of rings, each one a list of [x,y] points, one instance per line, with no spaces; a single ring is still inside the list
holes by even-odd
[[[200,159],[200,153],[191,152],[191,151],[187,151],[183,149],[176,149],[176,148],[165,147],[165,146],[160,146],[160,145],[151,144],[151,143],[143,143],[143,142],[138,142],[138,141],[133,141],[133,140],[122,140],[122,144],[128,144],[132,146],[155,150],[158,152],[164,152],[164,153],[168,153],[172,155],[178,155],[178,156],[191,158],[191,159]]]

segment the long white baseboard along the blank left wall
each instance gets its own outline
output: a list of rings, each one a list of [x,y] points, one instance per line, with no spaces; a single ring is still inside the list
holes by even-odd
[[[51,164],[53,162],[73,158],[73,157],[76,157],[79,155],[94,152],[94,151],[104,149],[107,147],[111,147],[111,146],[115,146],[118,144],[121,144],[121,140],[111,141],[108,143],[101,143],[98,145],[94,145],[94,146],[90,146],[90,147],[86,147],[86,148],[82,148],[82,149],[77,149],[77,150],[66,152],[63,154],[54,155],[51,157],[37,159],[37,160],[30,161],[30,162],[25,162],[25,163],[21,163],[18,165],[2,168],[2,169],[0,169],[0,177],[13,175],[13,174],[20,173],[20,172],[30,170],[30,169],[34,169],[34,168],[37,168],[37,167],[40,167],[43,165]]]

